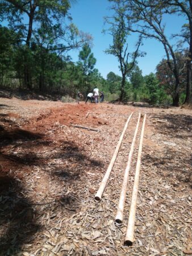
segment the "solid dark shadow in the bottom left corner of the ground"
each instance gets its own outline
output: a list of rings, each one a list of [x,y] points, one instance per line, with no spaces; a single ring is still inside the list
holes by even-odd
[[[1,173],[0,176],[0,255],[16,255],[23,243],[30,243],[41,229],[30,200],[23,196],[22,183]]]

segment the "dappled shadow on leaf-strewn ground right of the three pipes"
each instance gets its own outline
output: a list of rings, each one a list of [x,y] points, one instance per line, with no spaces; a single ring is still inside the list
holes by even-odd
[[[170,180],[173,186],[175,181],[187,183],[191,186],[191,160],[190,149],[187,151],[178,148],[175,139],[187,140],[191,138],[192,118],[190,115],[183,114],[154,114],[151,115],[156,120],[155,129],[159,134],[166,135],[171,147],[165,147],[161,154],[144,154],[143,162],[156,166],[158,175],[162,175]],[[169,145],[169,144],[168,144]],[[187,157],[188,155],[188,157]]]

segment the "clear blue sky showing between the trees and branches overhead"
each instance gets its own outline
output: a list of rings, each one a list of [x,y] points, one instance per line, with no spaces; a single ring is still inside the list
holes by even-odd
[[[77,0],[72,3],[70,14],[72,15],[73,22],[79,30],[89,32],[94,38],[93,48],[91,51],[97,59],[95,68],[98,68],[101,75],[106,78],[107,74],[112,71],[117,75],[121,75],[118,68],[118,60],[112,55],[106,55],[105,49],[112,43],[110,35],[103,35],[102,30],[105,28],[104,16],[109,15],[108,7],[110,3],[107,0]],[[166,33],[167,35],[174,34],[181,30],[181,26],[185,23],[185,19],[181,16],[166,16]],[[131,38],[132,44],[136,43],[134,37]],[[165,56],[162,44],[154,39],[147,39],[141,48],[147,55],[138,60],[139,68],[142,70],[143,75],[148,75],[155,72],[156,65],[160,62],[162,57]],[[73,61],[78,60],[78,52],[70,51],[69,55],[72,56]]]

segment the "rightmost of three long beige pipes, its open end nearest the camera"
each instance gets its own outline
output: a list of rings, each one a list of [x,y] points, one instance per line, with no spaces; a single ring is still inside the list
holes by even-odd
[[[134,180],[134,184],[133,184],[133,191],[132,191],[132,198],[131,198],[130,215],[128,218],[126,240],[124,242],[126,245],[132,245],[132,243],[133,243],[137,192],[138,192],[138,187],[139,187],[139,172],[140,172],[140,166],[141,166],[141,151],[142,151],[143,136],[144,136],[144,129],[145,129],[145,119],[146,119],[146,114],[144,115],[144,119],[143,119],[143,126],[142,126],[142,130],[141,130],[141,138],[140,138],[140,143],[139,143],[139,151],[138,151],[138,156],[137,156],[135,180]]]

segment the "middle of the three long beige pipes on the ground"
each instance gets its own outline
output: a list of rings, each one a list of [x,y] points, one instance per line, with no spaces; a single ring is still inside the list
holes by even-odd
[[[135,129],[135,134],[133,136],[130,153],[128,155],[126,170],[124,171],[122,191],[120,192],[119,205],[118,205],[118,210],[116,212],[116,217],[115,217],[115,223],[118,225],[121,225],[122,221],[123,221],[123,209],[124,209],[124,202],[126,201],[128,175],[129,175],[130,168],[131,168],[131,159],[132,159],[133,149],[134,149],[134,145],[135,145],[135,141],[136,141],[136,137],[137,137],[137,131],[139,129],[140,117],[141,117],[141,113],[139,113],[136,129]]]

